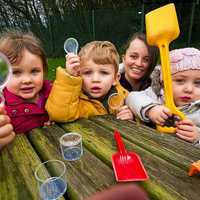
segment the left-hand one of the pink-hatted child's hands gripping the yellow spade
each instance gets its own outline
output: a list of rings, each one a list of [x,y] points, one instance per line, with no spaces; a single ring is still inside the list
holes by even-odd
[[[166,119],[172,116],[172,113],[166,106],[156,105],[147,111],[146,116],[155,124],[163,126]]]

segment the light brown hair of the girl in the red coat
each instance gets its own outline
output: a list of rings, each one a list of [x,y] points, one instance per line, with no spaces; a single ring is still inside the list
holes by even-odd
[[[47,58],[41,41],[32,32],[7,30],[1,34],[0,52],[8,57],[11,64],[21,61],[24,49],[41,58],[44,72],[47,72]]]

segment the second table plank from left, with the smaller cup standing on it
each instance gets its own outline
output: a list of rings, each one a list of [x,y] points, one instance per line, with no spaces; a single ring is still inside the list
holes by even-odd
[[[62,160],[59,138],[65,133],[54,125],[43,129],[34,129],[29,140],[43,160]],[[67,167],[67,183],[70,199],[84,199],[96,191],[115,184],[113,171],[92,155],[86,148],[78,161],[64,161]]]

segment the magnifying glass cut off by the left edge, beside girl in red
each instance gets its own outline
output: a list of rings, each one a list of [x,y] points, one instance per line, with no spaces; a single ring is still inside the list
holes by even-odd
[[[2,90],[8,83],[12,74],[11,65],[7,57],[0,52],[0,106],[4,106],[5,99]]]

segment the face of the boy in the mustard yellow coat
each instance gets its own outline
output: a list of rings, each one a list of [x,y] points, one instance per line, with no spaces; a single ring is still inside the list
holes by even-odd
[[[102,65],[88,60],[81,66],[80,73],[83,78],[83,90],[95,99],[103,98],[117,81],[112,64]]]

